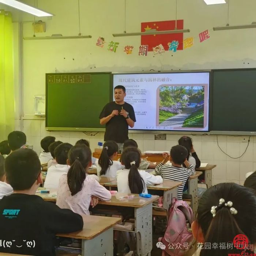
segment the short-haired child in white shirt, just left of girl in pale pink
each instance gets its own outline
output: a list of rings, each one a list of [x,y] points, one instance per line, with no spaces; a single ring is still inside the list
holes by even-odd
[[[54,149],[57,165],[52,165],[47,170],[44,183],[45,188],[58,188],[60,177],[68,173],[70,166],[67,164],[67,159],[70,148],[72,148],[71,144],[62,143]]]

